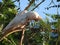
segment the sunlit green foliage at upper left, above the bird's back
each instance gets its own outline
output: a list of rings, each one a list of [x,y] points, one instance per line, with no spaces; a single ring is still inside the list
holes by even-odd
[[[13,17],[16,15],[17,10],[12,0],[2,0],[0,2],[0,26],[4,28]]]

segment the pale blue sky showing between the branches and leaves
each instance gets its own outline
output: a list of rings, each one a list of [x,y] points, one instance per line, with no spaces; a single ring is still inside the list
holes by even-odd
[[[1,1],[1,0],[0,0]],[[36,4],[38,4],[41,0],[37,0],[37,2],[35,2]],[[54,4],[58,5],[60,4],[60,2],[56,2],[56,0],[53,0]],[[25,7],[28,6],[29,2],[27,0],[20,0],[20,7],[21,10],[23,11],[25,9]],[[57,14],[57,8],[50,8],[49,10],[45,9],[46,7],[52,6],[54,5],[53,3],[51,5],[49,5],[51,2],[51,0],[45,0],[45,2],[43,2],[41,5],[39,5],[34,11],[36,11],[43,19],[46,18],[46,15],[43,13],[48,13],[48,14]],[[17,7],[19,6],[19,4],[17,2],[15,2],[15,5],[17,5]],[[49,6],[48,6],[49,5]],[[60,8],[58,9],[59,14],[60,14]],[[50,20],[52,20],[49,17]]]

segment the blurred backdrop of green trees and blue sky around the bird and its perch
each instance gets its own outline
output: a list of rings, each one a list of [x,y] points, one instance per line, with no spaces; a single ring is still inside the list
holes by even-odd
[[[23,10],[36,11],[42,20],[29,23],[22,45],[60,45],[60,0],[0,0],[0,32]],[[0,45],[18,45],[21,34],[9,35]]]

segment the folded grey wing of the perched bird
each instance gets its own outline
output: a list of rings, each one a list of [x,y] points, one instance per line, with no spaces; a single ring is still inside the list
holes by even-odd
[[[17,24],[23,22],[24,23],[24,18],[26,17],[26,15],[24,15],[25,13],[27,13],[27,11],[22,11],[21,13],[19,13],[18,15],[15,16],[15,18],[3,29],[3,32],[5,30],[8,30],[10,28],[13,28],[14,26],[17,26]]]

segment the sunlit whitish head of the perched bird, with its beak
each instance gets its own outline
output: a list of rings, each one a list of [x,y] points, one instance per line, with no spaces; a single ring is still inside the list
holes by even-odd
[[[30,11],[27,13],[28,15],[28,19],[29,20],[35,20],[35,21],[38,21],[38,20],[41,20],[42,18],[40,17],[40,15],[35,12],[35,11]]]

